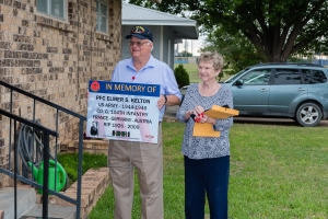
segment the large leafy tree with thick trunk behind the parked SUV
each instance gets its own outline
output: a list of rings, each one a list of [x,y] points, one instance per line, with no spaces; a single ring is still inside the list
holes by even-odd
[[[247,38],[257,55],[285,62],[292,54],[328,51],[327,0],[165,0],[130,3],[172,14],[191,11],[190,19],[213,37]],[[216,30],[220,30],[218,32]]]

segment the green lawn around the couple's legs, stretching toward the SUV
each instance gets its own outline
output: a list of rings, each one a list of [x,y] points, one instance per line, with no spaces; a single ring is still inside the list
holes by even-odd
[[[183,132],[184,124],[163,123],[165,219],[185,218]],[[235,123],[230,135],[230,218],[327,218],[326,136],[324,127]],[[141,218],[138,187],[136,181],[133,219]],[[114,218],[113,214],[109,186],[90,219]]]

